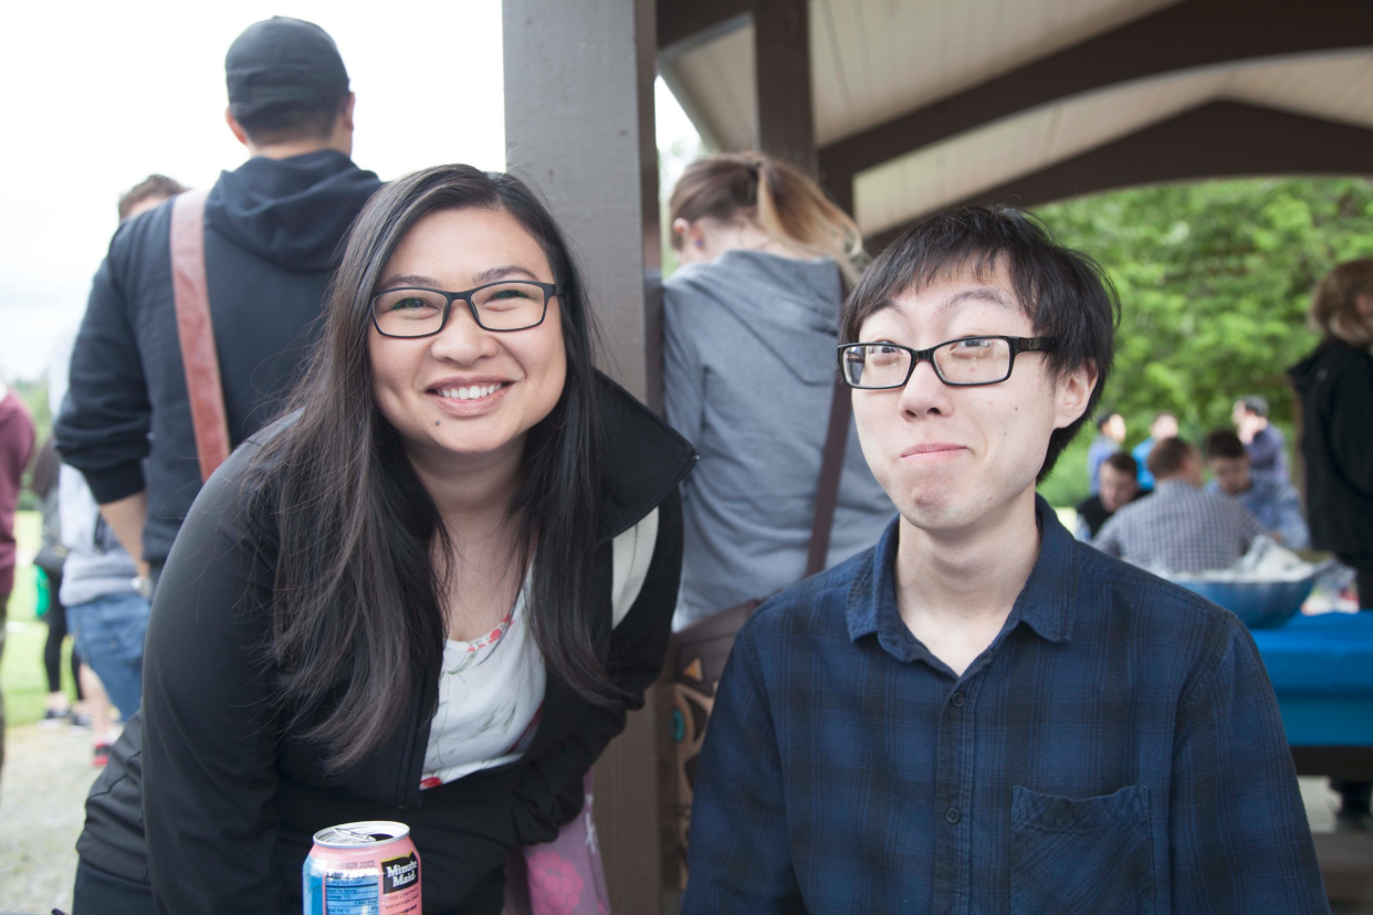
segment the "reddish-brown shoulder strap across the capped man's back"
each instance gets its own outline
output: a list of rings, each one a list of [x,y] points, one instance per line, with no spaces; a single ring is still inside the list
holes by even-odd
[[[229,457],[229,423],[210,321],[210,285],[205,278],[207,196],[206,191],[187,191],[172,202],[172,292],[202,480],[209,480]]]

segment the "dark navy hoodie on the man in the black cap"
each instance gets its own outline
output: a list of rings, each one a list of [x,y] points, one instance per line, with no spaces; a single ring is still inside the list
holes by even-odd
[[[323,150],[249,159],[210,191],[205,272],[235,446],[270,418],[295,380],[317,336],[331,258],[379,187],[342,152]],[[102,505],[147,488],[143,550],[151,561],[166,558],[200,491],[170,230],[168,202],[115,232],[55,428],[62,460],[85,475]]]

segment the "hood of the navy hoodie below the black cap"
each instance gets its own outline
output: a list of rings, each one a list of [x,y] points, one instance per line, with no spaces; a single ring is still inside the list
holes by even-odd
[[[327,270],[353,214],[382,185],[336,150],[249,159],[222,171],[205,203],[206,225],[286,270]]]

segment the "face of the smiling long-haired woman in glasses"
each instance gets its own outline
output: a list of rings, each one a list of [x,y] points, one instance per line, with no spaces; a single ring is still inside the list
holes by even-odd
[[[493,273],[507,278],[490,283]],[[419,288],[419,278],[468,291]],[[562,396],[568,364],[566,295],[534,236],[505,210],[437,210],[401,239],[378,288],[372,392],[416,471],[432,476],[460,455],[522,453],[524,435]],[[585,350],[578,324],[568,336]]]

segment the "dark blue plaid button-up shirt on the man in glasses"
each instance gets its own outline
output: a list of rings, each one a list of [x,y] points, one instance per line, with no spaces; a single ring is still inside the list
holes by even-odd
[[[1273,687],[1238,620],[1076,543],[956,676],[873,550],[735,643],[684,915],[1325,912]]]

